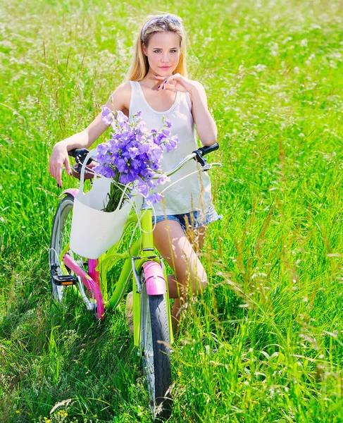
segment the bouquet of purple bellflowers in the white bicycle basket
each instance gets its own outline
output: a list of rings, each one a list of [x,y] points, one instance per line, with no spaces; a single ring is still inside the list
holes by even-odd
[[[161,128],[148,130],[140,118],[141,112],[132,116],[129,122],[122,111],[113,112],[107,106],[101,107],[102,119],[111,125],[108,142],[96,147],[96,172],[113,178],[123,184],[137,180],[137,190],[151,202],[158,202],[162,195],[156,192],[158,184],[169,178],[161,171],[163,151],[170,152],[177,146],[177,136],[170,134],[171,121],[163,118]],[[156,180],[154,176],[158,175]]]

